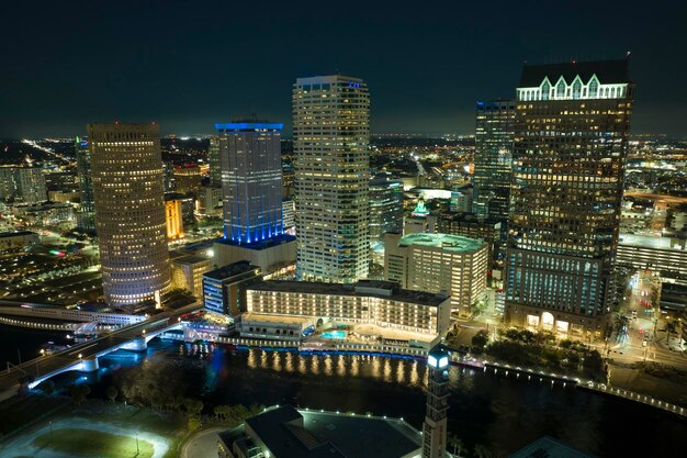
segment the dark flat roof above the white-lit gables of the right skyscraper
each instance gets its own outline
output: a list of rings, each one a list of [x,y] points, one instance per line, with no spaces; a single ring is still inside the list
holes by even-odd
[[[555,85],[563,77],[570,85],[577,75],[583,82],[587,82],[596,75],[601,85],[613,82],[630,82],[630,60],[596,60],[596,62],[571,62],[566,64],[545,64],[522,66],[520,88],[533,88],[541,85],[544,77],[549,77],[551,85]]]

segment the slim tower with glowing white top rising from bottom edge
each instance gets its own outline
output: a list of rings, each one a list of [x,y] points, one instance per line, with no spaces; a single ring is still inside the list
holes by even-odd
[[[427,355],[429,377],[423,423],[423,458],[444,458],[449,410],[449,353],[438,345]]]

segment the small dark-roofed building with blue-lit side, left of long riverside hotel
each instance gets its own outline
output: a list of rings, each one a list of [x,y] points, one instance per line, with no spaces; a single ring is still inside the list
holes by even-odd
[[[214,313],[237,316],[247,310],[246,288],[260,281],[260,268],[245,260],[205,272],[203,305]]]

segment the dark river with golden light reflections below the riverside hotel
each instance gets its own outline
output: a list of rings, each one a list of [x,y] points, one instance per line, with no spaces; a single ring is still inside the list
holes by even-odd
[[[0,329],[5,353],[11,345],[29,348],[46,339],[7,329]],[[101,358],[98,373],[70,372],[55,381],[58,387],[88,382],[93,395],[102,395],[113,379],[146,360],[173,364],[188,382],[187,395],[206,405],[291,403],[404,417],[416,428],[423,422],[427,369],[408,359],[236,351],[154,339],[147,353],[120,350]],[[543,435],[599,457],[679,456],[687,434],[682,417],[570,384],[451,367],[450,386],[449,431],[470,447],[497,445],[504,456]]]

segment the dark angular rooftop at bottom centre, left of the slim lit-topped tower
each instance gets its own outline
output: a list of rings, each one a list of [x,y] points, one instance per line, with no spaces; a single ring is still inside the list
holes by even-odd
[[[279,458],[402,458],[420,448],[419,433],[399,420],[285,405],[248,418],[246,425]],[[221,438],[235,440],[233,433]]]

